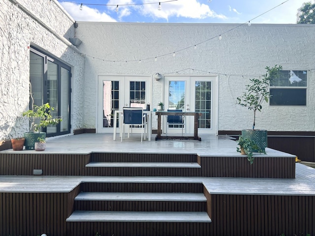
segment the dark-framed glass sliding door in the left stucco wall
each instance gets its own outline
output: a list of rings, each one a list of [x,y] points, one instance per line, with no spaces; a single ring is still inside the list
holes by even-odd
[[[30,49],[30,82],[32,103],[49,103],[54,107],[53,117],[62,118],[58,125],[49,125],[43,131],[47,137],[70,133],[70,80],[71,67],[47,54]]]

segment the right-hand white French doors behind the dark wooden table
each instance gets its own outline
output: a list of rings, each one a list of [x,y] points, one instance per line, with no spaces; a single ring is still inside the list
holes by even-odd
[[[217,134],[217,76],[164,76],[164,110],[200,112],[198,134]],[[168,133],[181,133],[182,127],[164,122]],[[185,117],[185,130],[193,134],[193,116]]]

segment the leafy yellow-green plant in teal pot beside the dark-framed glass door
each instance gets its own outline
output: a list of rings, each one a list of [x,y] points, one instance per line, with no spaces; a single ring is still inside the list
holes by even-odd
[[[45,103],[41,106],[33,105],[32,110],[22,113],[22,116],[29,118],[31,123],[30,132],[24,133],[25,149],[33,150],[39,137],[42,139],[46,138],[46,133],[39,131],[41,128],[50,124],[55,125],[62,121],[61,118],[55,118],[51,115],[53,110],[54,108],[49,103]]]

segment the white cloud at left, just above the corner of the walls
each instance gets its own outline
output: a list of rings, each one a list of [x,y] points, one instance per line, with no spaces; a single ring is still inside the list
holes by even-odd
[[[100,21],[100,22],[116,22],[114,18],[105,12],[99,12],[95,8],[83,5],[82,11],[79,9],[80,4],[71,2],[60,2],[63,8],[69,13],[75,21]]]

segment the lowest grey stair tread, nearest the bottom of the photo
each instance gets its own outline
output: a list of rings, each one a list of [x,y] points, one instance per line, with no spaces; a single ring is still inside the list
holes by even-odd
[[[74,211],[67,222],[204,222],[210,223],[207,212],[161,211]]]

